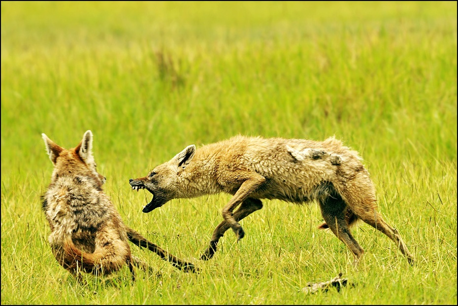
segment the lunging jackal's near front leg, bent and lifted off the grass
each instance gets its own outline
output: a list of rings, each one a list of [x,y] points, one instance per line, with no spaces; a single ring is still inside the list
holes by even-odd
[[[258,173],[249,172],[245,176],[247,176],[247,179],[240,185],[240,188],[232,199],[230,199],[229,203],[224,206],[222,212],[224,220],[229,224],[235,235],[237,235],[237,241],[245,236],[245,232],[242,226],[235,220],[232,211],[265,182],[265,177]]]

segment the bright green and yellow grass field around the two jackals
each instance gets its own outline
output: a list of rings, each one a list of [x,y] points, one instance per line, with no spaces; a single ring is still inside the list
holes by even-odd
[[[200,269],[131,245],[127,267],[78,285],[48,245],[41,133],[94,133],[123,220]],[[226,194],[150,199],[129,178],[189,144],[233,135],[323,140],[360,152],[378,205],[406,241],[361,224],[352,254],[316,204],[264,200],[200,261]],[[342,272],[354,287],[304,294]],[[1,1],[1,305],[457,304],[457,2]]]

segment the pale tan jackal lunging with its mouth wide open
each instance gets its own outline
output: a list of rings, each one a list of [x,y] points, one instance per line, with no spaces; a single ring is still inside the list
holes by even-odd
[[[260,199],[279,199],[297,204],[316,200],[325,220],[319,228],[330,228],[347,245],[355,266],[363,249],[349,228],[359,219],[392,239],[409,263],[414,261],[398,232],[377,211],[375,188],[358,152],[334,137],[313,141],[235,136],[199,149],[189,145],[147,176],[130,179],[130,184],[132,189],[144,188],[153,194],[143,212],[176,198],[219,192],[233,195],[203,260],[213,257],[229,228],[238,239],[243,238],[238,221],[261,209]]]

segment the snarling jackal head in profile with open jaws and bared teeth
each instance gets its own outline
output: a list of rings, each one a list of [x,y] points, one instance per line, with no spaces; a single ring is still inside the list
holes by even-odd
[[[137,191],[146,189],[153,194],[153,200],[143,207],[143,212],[150,212],[176,198],[177,188],[183,181],[183,170],[194,157],[195,152],[196,146],[189,145],[168,162],[151,170],[148,175],[129,180],[132,189]]]

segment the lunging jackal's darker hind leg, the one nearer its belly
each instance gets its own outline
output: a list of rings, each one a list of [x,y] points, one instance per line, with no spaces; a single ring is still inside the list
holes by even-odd
[[[354,255],[353,265],[357,266],[360,257],[364,253],[362,247],[353,238],[345,219],[347,205],[338,195],[328,196],[319,201],[321,214],[329,229],[339,238]]]

